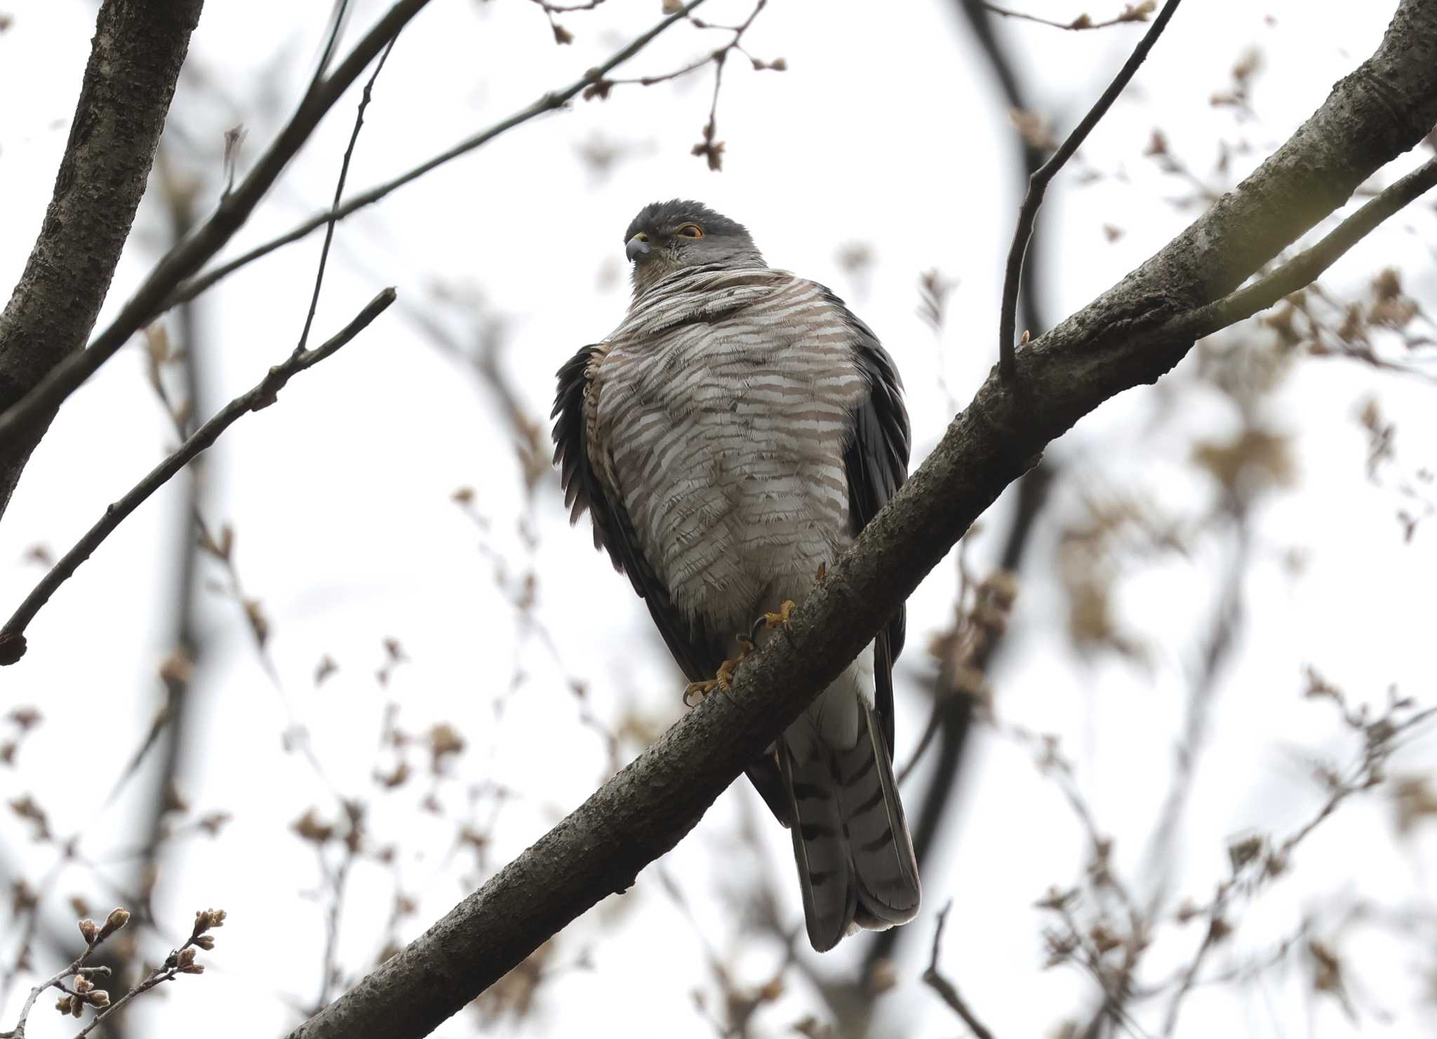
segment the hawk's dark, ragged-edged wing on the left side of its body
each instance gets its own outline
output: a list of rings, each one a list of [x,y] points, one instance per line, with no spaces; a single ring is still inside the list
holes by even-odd
[[[616,489],[606,487],[589,461],[583,394],[591,368],[602,355],[602,346],[585,346],[559,369],[559,392],[550,418],[555,420],[553,460],[559,466],[565,504],[570,509],[569,522],[576,523],[585,510],[589,512],[593,546],[606,549],[614,569],[628,575],[688,681],[711,678],[723,662],[723,642],[710,637],[701,621],[690,622],[674,608],[668,589],[644,559]]]

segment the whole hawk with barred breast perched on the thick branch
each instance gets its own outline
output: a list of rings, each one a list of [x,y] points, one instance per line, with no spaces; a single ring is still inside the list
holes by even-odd
[[[711,688],[753,619],[757,638],[785,624],[902,484],[908,414],[872,331],[822,285],[769,267],[741,224],[673,200],[644,207],[624,241],[634,297],[559,369],[555,461],[572,519],[589,512],[690,688]],[[892,770],[902,641],[900,609],[747,769],[793,831],[819,951],[918,911]]]

